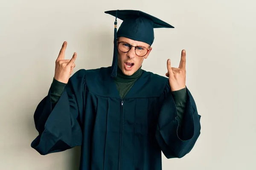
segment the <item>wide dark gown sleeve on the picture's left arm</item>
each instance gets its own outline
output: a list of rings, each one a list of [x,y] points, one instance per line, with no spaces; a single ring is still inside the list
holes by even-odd
[[[46,155],[81,145],[79,116],[84,111],[85,88],[84,71],[79,70],[70,77],[54,108],[51,88],[38,104],[34,113],[38,136],[31,143],[38,153]]]

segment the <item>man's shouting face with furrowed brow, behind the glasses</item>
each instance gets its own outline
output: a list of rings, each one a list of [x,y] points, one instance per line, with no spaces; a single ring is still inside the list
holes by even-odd
[[[134,41],[125,37],[119,37],[118,42],[128,42],[130,45],[144,46],[145,48],[149,49],[147,54],[143,57],[137,55],[139,52],[137,52],[137,54],[135,53],[134,47],[132,47],[131,50],[126,53],[118,49],[118,66],[122,70],[123,74],[131,76],[141,67],[143,60],[148,57],[148,54],[151,52],[152,48],[149,48],[149,45],[145,42]],[[124,45],[127,46],[126,44]],[[140,49],[141,48],[139,48],[137,51]]]

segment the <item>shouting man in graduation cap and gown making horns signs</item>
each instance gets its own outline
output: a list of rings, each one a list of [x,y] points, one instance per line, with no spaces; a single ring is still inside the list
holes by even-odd
[[[123,20],[114,31],[111,67],[81,69],[72,77],[76,53],[56,60],[48,95],[36,108],[42,155],[81,146],[81,170],[161,170],[167,158],[190,152],[200,135],[200,115],[186,88],[186,53],[166,76],[143,70],[152,50],[153,28],[174,28],[141,11],[106,11]]]

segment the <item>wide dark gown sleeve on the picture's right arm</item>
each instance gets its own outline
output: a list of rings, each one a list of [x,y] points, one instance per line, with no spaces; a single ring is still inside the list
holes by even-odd
[[[198,114],[195,101],[187,87],[187,99],[182,119],[178,119],[169,81],[163,97],[155,136],[166,158],[182,158],[192,150],[201,133],[201,116]],[[179,126],[180,123],[182,126]]]

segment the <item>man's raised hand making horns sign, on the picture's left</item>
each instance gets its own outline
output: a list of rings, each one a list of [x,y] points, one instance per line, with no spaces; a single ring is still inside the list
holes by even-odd
[[[72,74],[73,69],[76,67],[76,64],[75,64],[76,52],[73,54],[73,57],[71,59],[64,59],[66,47],[67,47],[67,42],[65,41],[61,47],[61,51],[55,62],[54,78],[57,81],[63,82],[63,83],[68,82],[68,79],[70,78],[70,74]]]

